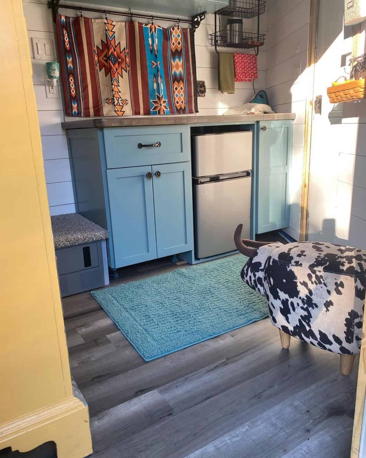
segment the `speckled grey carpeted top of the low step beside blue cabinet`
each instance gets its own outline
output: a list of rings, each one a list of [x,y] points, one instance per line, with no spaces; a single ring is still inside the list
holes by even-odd
[[[55,250],[108,239],[108,230],[79,213],[51,216],[51,224]]]

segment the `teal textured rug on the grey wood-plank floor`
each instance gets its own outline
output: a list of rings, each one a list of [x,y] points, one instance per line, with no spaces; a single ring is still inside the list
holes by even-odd
[[[92,296],[151,361],[268,316],[265,298],[240,277],[245,262],[228,256]]]

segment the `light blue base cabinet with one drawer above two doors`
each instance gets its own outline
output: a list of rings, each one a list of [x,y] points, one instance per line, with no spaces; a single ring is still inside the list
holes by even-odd
[[[78,212],[108,229],[113,271],[193,250],[188,126],[73,129],[67,137]]]

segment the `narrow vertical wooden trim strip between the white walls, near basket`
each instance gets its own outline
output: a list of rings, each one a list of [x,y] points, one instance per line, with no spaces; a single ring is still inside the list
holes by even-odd
[[[312,137],[312,100],[314,93],[314,70],[316,58],[318,26],[318,0],[311,0],[310,6],[310,24],[309,40],[307,47],[307,102],[305,112],[305,133],[304,133],[304,156],[302,167],[302,187],[300,203],[300,230],[299,241],[307,239],[307,222],[308,222],[308,200],[309,200],[309,182],[310,182],[310,153]]]

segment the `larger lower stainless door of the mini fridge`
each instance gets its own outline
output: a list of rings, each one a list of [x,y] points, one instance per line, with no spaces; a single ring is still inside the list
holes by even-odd
[[[250,238],[252,179],[194,185],[194,250],[196,258],[236,250],[234,232],[242,223],[242,238]]]

